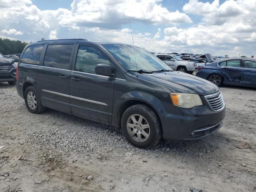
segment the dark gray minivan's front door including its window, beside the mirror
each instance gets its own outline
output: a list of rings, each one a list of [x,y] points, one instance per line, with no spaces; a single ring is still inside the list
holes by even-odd
[[[97,64],[110,64],[98,48],[80,45],[70,73],[70,101],[74,114],[111,122],[114,78],[95,73]]]

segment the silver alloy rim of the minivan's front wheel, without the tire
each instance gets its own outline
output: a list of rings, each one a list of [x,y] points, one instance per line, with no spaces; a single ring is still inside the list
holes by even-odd
[[[145,142],[150,136],[148,121],[139,114],[133,114],[128,118],[126,129],[130,137],[136,142]]]

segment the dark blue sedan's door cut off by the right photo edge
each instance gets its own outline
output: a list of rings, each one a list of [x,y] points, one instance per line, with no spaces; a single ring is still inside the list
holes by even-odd
[[[244,77],[243,83],[247,86],[256,87],[256,62],[253,60],[243,60]]]

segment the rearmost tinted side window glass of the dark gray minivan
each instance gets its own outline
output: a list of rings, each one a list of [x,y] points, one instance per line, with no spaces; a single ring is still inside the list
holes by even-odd
[[[20,62],[26,63],[26,64],[39,65],[39,60],[40,60],[43,47],[44,47],[44,44],[29,46],[25,50]]]

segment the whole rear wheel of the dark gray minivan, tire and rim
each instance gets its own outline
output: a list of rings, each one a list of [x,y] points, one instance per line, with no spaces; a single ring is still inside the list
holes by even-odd
[[[46,110],[46,107],[42,106],[40,96],[38,95],[34,86],[29,86],[24,94],[26,107],[31,113],[42,113]]]

